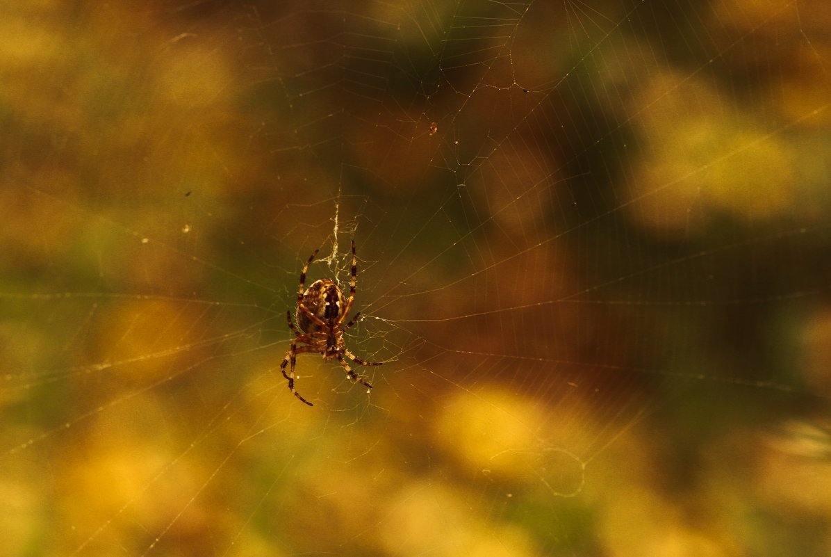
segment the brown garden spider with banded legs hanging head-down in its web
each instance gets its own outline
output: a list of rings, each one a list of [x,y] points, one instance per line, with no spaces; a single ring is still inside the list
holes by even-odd
[[[318,249],[315,249],[314,253],[309,256],[300,273],[300,287],[297,288],[297,313],[295,313],[297,327],[292,323],[292,310],[289,309],[286,312],[288,328],[292,329],[295,338],[292,340],[292,346],[288,348],[286,357],[283,358],[283,363],[280,364],[283,377],[288,379],[289,390],[294,393],[295,397],[310,407],[314,405],[301,397],[297,389],[294,388],[294,363],[297,360],[297,354],[318,352],[322,354],[324,360],[335,359],[347,370],[347,375],[353,382],[361,383],[361,385],[369,388],[372,388],[372,385],[353,372],[343,357],[348,357],[360,366],[380,366],[383,363],[364,362],[361,358],[349,352],[343,340],[343,333],[352,327],[361,315],[358,312],[355,317],[349,320],[349,323],[343,324],[347,319],[347,315],[349,315],[349,310],[352,309],[352,302],[355,300],[358,278],[355,240],[352,240],[352,277],[349,280],[349,298],[345,302],[341,288],[338,288],[337,283],[331,278],[316,280],[312,283],[312,286],[304,291],[304,288],[306,288],[306,272],[317,255],[317,251]],[[298,328],[299,330],[297,330]],[[305,344],[306,346],[297,347],[298,344]],[[292,365],[287,374],[286,366],[289,363]]]

